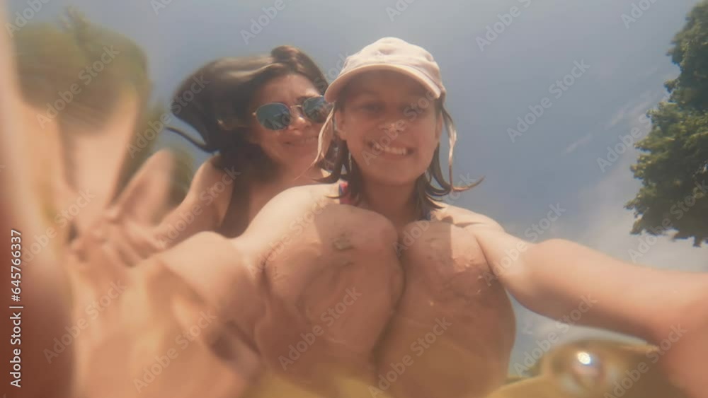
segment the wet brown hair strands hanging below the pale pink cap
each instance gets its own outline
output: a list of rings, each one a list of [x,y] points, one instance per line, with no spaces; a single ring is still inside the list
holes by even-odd
[[[328,176],[322,178],[321,182],[332,183],[340,179],[347,181],[346,192],[342,192],[338,198],[345,196],[350,197],[355,204],[358,204],[362,199],[363,193],[362,174],[356,164],[356,160],[350,156],[346,141],[338,138],[336,119],[334,117],[335,112],[344,109],[347,92],[347,88],[343,88],[340,91],[339,98],[335,101],[332,112],[330,112],[329,117],[322,126],[317,159],[320,160],[325,156],[330,156],[330,143],[336,143],[336,153],[333,156],[333,165],[331,167],[333,171]],[[455,149],[455,143],[457,142],[457,129],[455,128],[455,122],[452,121],[450,113],[445,109],[444,94],[440,98],[435,99],[435,112],[437,112],[438,117],[442,117],[443,128],[447,130],[447,135],[450,137],[450,153],[447,157],[448,177],[450,180],[445,180],[445,176],[442,174],[442,167],[440,165],[440,144],[438,143],[433,153],[433,159],[430,160],[430,165],[428,165],[428,169],[416,180],[414,200],[416,208],[420,211],[424,211],[425,209],[440,209],[441,206],[435,202],[435,198],[444,197],[451,192],[466,191],[467,189],[476,187],[476,185],[479,185],[482,180],[484,180],[484,177],[481,177],[476,182],[464,186],[457,186],[452,183],[452,153]],[[433,183],[433,180],[437,186]]]

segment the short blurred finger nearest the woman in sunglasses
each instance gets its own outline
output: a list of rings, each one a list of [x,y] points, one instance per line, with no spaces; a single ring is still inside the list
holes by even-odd
[[[169,206],[174,167],[175,158],[170,151],[150,156],[110,209],[110,218],[132,218],[146,225],[156,223]]]

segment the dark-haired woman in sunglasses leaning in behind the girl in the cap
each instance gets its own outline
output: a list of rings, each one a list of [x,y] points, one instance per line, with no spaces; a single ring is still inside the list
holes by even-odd
[[[170,109],[203,143],[168,129],[215,156],[201,165],[185,199],[157,226],[111,211],[108,222],[93,228],[93,237],[116,261],[133,265],[203,230],[241,234],[275,194],[323,177],[325,161],[312,165],[312,159],[331,108],[322,96],[326,87],[312,59],[291,46],[202,66],[181,83]],[[166,165],[162,172],[170,170]]]

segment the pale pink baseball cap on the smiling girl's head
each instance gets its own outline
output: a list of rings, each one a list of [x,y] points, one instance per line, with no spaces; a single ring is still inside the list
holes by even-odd
[[[334,102],[352,78],[368,71],[400,72],[421,83],[435,98],[445,95],[440,66],[430,52],[398,37],[384,37],[347,57],[339,76],[324,93],[324,98]]]

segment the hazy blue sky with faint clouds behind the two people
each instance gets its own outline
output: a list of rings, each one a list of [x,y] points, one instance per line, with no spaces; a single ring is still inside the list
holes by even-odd
[[[396,9],[394,0],[282,0],[282,9],[265,18],[262,8],[276,1],[171,0],[154,9],[147,0],[52,0],[36,19],[54,18],[74,4],[91,21],[131,37],[150,55],[155,93],[165,100],[182,78],[217,57],[290,44],[310,54],[325,74],[332,70],[333,77],[340,57],[379,37],[426,47],[440,64],[447,107],[457,124],[455,175],[486,177],[455,204],[491,216],[525,238],[527,228],[558,204],[564,212],[540,239],[575,240],[631,261],[630,250],[638,250],[641,237],[629,234],[633,216],[623,205],[640,186],[629,171],[638,153],[632,148],[604,170],[598,158],[632,128],[641,136],[648,131],[642,115],[665,95],[663,83],[679,72],[666,56],[670,40],[698,1],[644,0],[649,8],[641,16],[635,10],[634,21],[622,14],[632,16],[632,4],[640,1],[408,1],[399,0],[401,11],[393,13],[387,8]],[[25,1],[10,3],[10,16],[26,8]],[[268,24],[246,43],[241,31],[259,17]],[[495,23],[501,33],[480,45]],[[576,62],[588,67],[567,77]],[[572,83],[558,91],[556,81],[564,78]],[[512,141],[508,129],[516,129],[518,118],[530,107],[538,110],[544,98],[543,114]],[[660,238],[636,260],[708,271],[706,254],[688,241]],[[556,328],[517,310],[512,363],[523,361],[535,341]],[[605,335],[573,327],[561,341]]]

